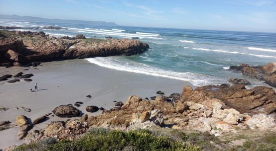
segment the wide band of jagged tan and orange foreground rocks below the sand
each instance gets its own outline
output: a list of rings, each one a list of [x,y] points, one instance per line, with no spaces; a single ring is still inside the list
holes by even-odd
[[[61,105],[52,113],[43,115],[33,122],[26,116],[16,119],[19,126],[19,139],[38,142],[48,137],[58,140],[73,140],[91,128],[120,130],[146,129],[185,129],[209,132],[215,136],[239,133],[248,129],[276,132],[276,93],[272,88],[255,87],[246,89],[244,85],[228,84],[216,86],[183,88],[182,94],[165,96],[157,92],[151,100],[130,96],[126,102],[117,102],[110,110],[101,109],[102,115],[82,114],[72,104]],[[77,104],[81,105],[81,102]],[[75,104],[76,106],[76,104]],[[96,106],[87,106],[94,112]],[[44,122],[52,115],[58,117],[80,117],[64,121],[52,121],[44,129],[30,130],[33,125]],[[1,127],[9,128],[9,121],[1,122]],[[7,148],[15,148],[12,146]]]

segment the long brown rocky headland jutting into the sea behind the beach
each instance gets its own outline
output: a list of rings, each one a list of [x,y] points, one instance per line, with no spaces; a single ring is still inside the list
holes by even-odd
[[[0,33],[8,37],[0,39],[0,65],[7,66],[15,62],[28,64],[33,61],[56,59],[133,55],[149,48],[148,44],[137,40],[91,39],[81,34],[73,38],[56,38],[43,32],[0,31]]]

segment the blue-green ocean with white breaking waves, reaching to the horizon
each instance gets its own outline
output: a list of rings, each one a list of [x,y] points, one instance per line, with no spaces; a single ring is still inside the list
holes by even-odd
[[[189,81],[195,86],[228,83],[228,79],[243,78],[252,87],[265,85],[239,72],[229,71],[229,66],[248,63],[264,65],[276,61],[276,33],[190,30],[170,28],[92,26],[78,23],[61,24],[33,21],[0,21],[2,26],[42,27],[47,25],[66,29],[39,29],[46,34],[61,37],[84,34],[86,37],[104,39],[139,37],[150,49],[133,56],[87,58],[99,66],[143,73],[158,77]],[[18,29],[27,30],[27,29]]]

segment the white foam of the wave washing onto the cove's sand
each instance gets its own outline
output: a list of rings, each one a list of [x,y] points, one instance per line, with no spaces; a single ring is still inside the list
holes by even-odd
[[[221,81],[221,79],[211,77],[209,75],[164,70],[143,63],[121,61],[119,59],[116,59],[115,57],[95,57],[87,58],[86,60],[88,60],[90,63],[116,70],[154,75],[158,77],[176,79],[181,81],[189,81],[195,86],[218,84],[218,82]]]

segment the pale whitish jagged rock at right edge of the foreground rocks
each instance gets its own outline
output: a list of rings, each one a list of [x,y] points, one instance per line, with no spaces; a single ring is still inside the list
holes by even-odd
[[[255,114],[253,115],[249,120],[245,121],[245,123],[251,128],[251,129],[269,129],[269,128],[275,128],[275,118],[273,118],[270,115],[265,115],[263,113]]]

